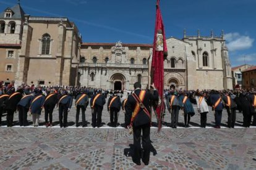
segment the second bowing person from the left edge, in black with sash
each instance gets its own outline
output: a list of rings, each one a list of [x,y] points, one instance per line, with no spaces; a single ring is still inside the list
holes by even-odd
[[[22,99],[23,89],[18,89],[17,92],[13,92],[9,99],[6,101],[6,111],[7,111],[7,127],[11,127],[14,121],[14,112],[17,110],[17,104]]]

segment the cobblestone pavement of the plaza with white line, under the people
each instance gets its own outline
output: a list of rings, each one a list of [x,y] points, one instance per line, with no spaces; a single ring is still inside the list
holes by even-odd
[[[184,128],[169,128],[171,116],[166,113],[160,133],[151,128],[151,140],[157,155],[151,153],[150,164],[137,166],[124,156],[133,138],[126,129],[108,127],[109,114],[103,111],[103,126],[92,128],[90,108],[86,111],[88,127],[75,127],[75,108],[69,112],[69,127],[60,128],[58,111],[54,110],[54,126],[20,127],[15,113],[14,127],[0,127],[0,169],[255,169],[256,128],[244,128],[242,114],[237,113],[234,129],[226,128],[223,111],[221,129],[214,129],[213,113],[208,113],[208,128],[199,127],[200,116],[191,118]],[[3,117],[3,124],[6,124]],[[28,116],[31,121],[32,117]],[[81,118],[80,118],[81,119]],[[155,121],[155,118],[153,118]],[[124,123],[120,113],[119,123]],[[41,127],[41,128],[40,128]]]

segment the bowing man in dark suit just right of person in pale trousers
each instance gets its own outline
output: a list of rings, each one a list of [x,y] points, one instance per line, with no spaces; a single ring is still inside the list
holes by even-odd
[[[56,104],[58,103],[58,96],[57,94],[51,90],[46,95],[45,103],[43,107],[45,108],[45,126],[51,127],[53,126],[53,110]],[[48,122],[48,115],[49,115],[49,122]]]

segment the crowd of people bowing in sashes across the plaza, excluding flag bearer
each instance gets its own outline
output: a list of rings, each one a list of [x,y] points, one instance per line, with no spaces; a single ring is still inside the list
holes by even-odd
[[[125,93],[125,94],[124,94]],[[2,113],[7,112],[7,126],[13,125],[14,113],[19,111],[20,126],[27,126],[28,112],[32,114],[33,126],[38,126],[41,111],[45,111],[45,125],[53,126],[53,110],[59,111],[60,127],[67,127],[67,115],[75,99],[76,126],[79,126],[79,115],[82,112],[82,126],[87,126],[85,111],[90,103],[92,108],[92,126],[101,126],[101,115],[105,103],[109,111],[109,126],[116,127],[119,111],[122,109],[126,114],[125,125],[129,126],[132,112],[127,105],[127,95],[131,92],[94,89],[91,87],[72,86],[22,86],[15,90],[14,83],[7,86],[0,84],[0,124]],[[223,109],[228,112],[228,127],[233,127],[236,122],[236,110],[244,116],[243,126],[250,127],[251,122],[256,126],[256,99],[254,89],[249,90],[203,90],[183,91],[182,89],[164,90],[165,102],[171,113],[171,127],[176,128],[179,121],[179,113],[184,115],[184,127],[189,127],[190,118],[195,115],[192,104],[197,105],[197,112],[200,114],[200,126],[207,126],[207,113],[209,108],[215,113],[215,126],[220,128]],[[108,97],[109,96],[109,97]],[[108,101],[106,99],[108,97]],[[121,98],[124,98],[121,102]],[[90,99],[90,101],[89,101]],[[165,110],[165,109],[164,109]],[[167,111],[164,111],[165,114]],[[163,114],[163,116],[165,115]],[[253,121],[252,121],[253,116]]]

